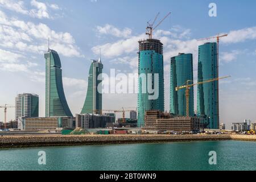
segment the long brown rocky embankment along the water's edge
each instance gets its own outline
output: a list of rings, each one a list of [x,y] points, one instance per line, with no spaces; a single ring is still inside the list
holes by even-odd
[[[94,144],[196,142],[216,140],[241,140],[256,142],[256,135],[46,135],[3,136],[1,148],[46,146],[81,146]]]

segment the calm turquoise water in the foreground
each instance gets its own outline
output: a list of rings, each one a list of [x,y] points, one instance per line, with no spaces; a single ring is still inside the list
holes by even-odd
[[[46,152],[46,165],[38,152]],[[217,152],[210,165],[209,151]],[[256,142],[216,141],[9,148],[0,170],[256,170]]]

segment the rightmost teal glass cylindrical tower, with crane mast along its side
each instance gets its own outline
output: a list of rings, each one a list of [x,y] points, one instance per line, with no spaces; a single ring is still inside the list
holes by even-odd
[[[199,46],[198,81],[218,77],[217,43],[205,43]],[[218,129],[218,81],[197,85],[197,115],[205,116],[209,129]]]

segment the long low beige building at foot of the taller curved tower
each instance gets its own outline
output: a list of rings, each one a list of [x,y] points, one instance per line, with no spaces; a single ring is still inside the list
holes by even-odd
[[[18,117],[20,130],[56,130],[57,128],[75,128],[74,117]]]

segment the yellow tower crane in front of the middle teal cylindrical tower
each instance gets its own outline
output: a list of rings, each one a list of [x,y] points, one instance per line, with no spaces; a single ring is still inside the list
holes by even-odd
[[[199,81],[196,84],[189,84],[189,82],[191,82],[191,80],[187,80],[187,84],[186,85],[177,86],[175,88],[176,91],[178,91],[180,89],[186,89],[185,90],[185,96],[186,96],[186,116],[189,117],[189,89],[192,86],[206,84],[206,83],[209,83],[209,82],[218,81],[218,80],[221,80],[221,79],[224,79],[224,78],[228,78],[228,77],[230,77],[230,76],[219,77],[219,78],[212,78],[212,79],[205,80],[205,81]]]

